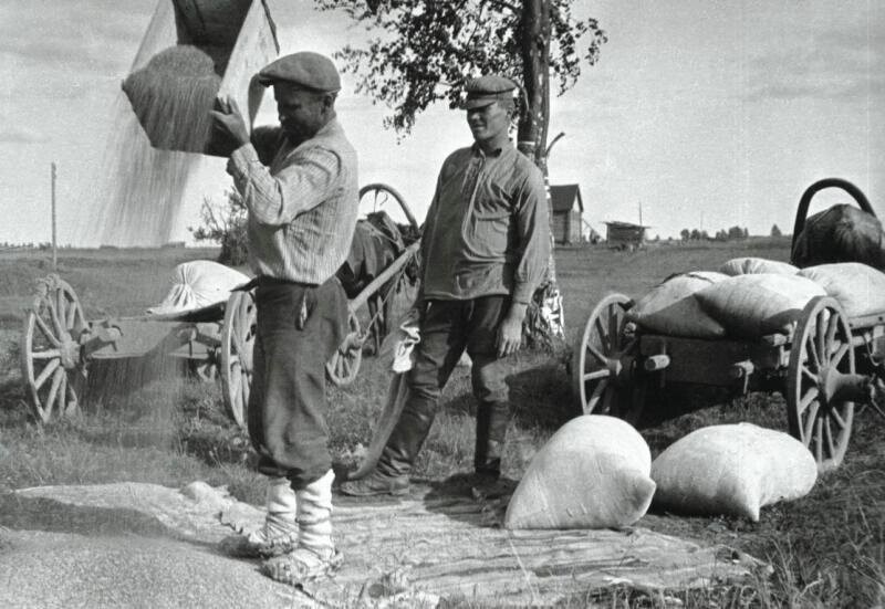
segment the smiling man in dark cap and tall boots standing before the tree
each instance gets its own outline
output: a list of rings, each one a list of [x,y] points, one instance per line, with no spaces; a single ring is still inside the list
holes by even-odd
[[[478,400],[473,466],[498,480],[510,422],[502,358],[519,349],[525,308],[549,254],[544,180],[508,137],[516,84],[483,76],[467,86],[475,143],[442,164],[421,238],[420,342],[409,397],[372,473],[345,482],[354,496],[402,495],[452,368],[467,350]]]

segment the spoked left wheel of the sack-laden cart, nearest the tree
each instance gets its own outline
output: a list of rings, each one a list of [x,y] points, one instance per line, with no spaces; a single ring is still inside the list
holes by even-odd
[[[646,382],[634,365],[639,342],[625,328],[632,305],[628,297],[610,294],[590,314],[574,346],[572,392],[584,414],[613,414],[636,424]]]

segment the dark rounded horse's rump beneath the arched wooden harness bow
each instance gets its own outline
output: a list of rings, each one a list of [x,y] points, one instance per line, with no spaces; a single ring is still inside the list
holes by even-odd
[[[796,266],[862,262],[885,271],[885,231],[875,216],[854,206],[833,206],[810,216],[793,244]]]

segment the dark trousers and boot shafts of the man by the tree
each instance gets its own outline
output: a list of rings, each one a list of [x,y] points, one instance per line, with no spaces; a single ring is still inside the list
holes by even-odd
[[[415,364],[407,377],[410,397],[378,459],[377,470],[381,474],[400,476],[410,472],[430,432],[439,395],[465,348],[473,358],[473,393],[480,402],[478,426],[479,412],[482,412],[482,420],[491,422],[490,427],[483,422],[483,429],[494,428],[493,441],[503,445],[503,434],[498,433],[501,429],[501,406],[492,408],[491,418],[488,418],[488,408],[482,405],[507,407],[503,367],[497,359],[496,351],[498,326],[503,319],[508,303],[507,296],[498,295],[428,303],[420,322],[420,343],[415,348]],[[503,429],[507,429],[507,423]],[[483,438],[486,435],[483,431]],[[490,449],[491,459],[498,460],[497,468],[500,469],[500,447],[494,448],[483,440],[479,458],[485,463],[489,459]],[[494,463],[491,466],[494,468]]]

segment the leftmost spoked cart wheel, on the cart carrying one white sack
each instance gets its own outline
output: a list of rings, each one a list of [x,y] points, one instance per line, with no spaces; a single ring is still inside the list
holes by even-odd
[[[58,275],[38,282],[24,315],[21,371],[34,414],[48,423],[72,414],[86,380],[80,335],[87,328],[76,294]]]

